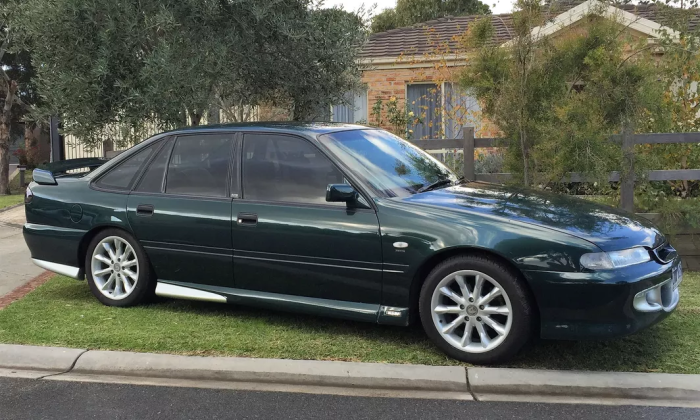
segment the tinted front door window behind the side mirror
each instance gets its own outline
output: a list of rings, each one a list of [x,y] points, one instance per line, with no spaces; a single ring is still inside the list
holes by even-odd
[[[328,184],[342,173],[309,142],[289,136],[246,134],[243,142],[243,194],[247,200],[328,204]]]

